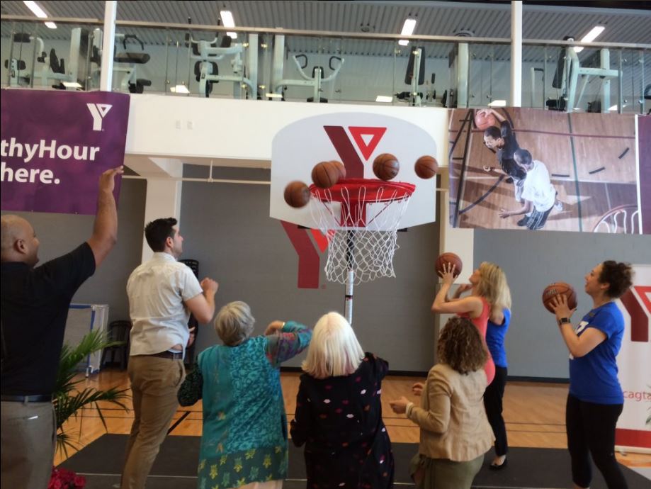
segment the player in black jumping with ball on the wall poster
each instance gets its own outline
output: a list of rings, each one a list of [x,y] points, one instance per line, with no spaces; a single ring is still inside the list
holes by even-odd
[[[521,201],[522,186],[526,173],[519,167],[514,159],[514,153],[520,149],[516,136],[511,128],[511,123],[501,113],[492,108],[482,108],[478,113],[483,112],[485,116],[492,114],[499,121],[499,128],[494,125],[484,131],[484,144],[489,150],[493,150],[497,156],[499,166],[506,176],[510,176],[515,186],[516,201]],[[490,172],[492,167],[484,167],[486,172]]]

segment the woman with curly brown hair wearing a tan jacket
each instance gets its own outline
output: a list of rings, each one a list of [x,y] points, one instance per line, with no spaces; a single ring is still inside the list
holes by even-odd
[[[482,397],[487,386],[486,349],[470,320],[452,317],[438,338],[438,360],[425,386],[414,385],[420,407],[404,396],[390,402],[421,429],[410,471],[419,489],[470,489],[493,432]]]

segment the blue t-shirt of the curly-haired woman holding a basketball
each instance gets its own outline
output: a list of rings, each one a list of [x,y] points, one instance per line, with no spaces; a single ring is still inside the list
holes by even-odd
[[[596,327],[606,339],[580,358],[570,355],[570,394],[587,403],[623,404],[616,356],[622,344],[624,317],[617,305],[609,302],[584,315],[577,335],[589,327]]]

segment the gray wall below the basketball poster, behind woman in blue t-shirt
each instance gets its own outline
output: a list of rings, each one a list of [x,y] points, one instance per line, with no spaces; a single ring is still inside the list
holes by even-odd
[[[506,336],[509,376],[567,378],[568,352],[555,318],[541,300],[549,283],[564,281],[577,291],[580,320],[592,307],[584,276],[607,259],[651,264],[650,236],[579,232],[475,230],[475,264],[504,268],[513,294],[513,319]]]

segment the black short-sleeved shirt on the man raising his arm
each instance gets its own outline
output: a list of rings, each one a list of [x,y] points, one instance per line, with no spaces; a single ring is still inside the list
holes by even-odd
[[[55,389],[72,296],[95,272],[88,243],[36,268],[1,264],[2,393],[50,395]]]

